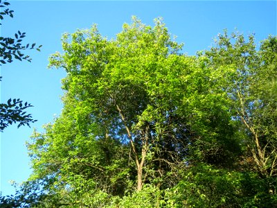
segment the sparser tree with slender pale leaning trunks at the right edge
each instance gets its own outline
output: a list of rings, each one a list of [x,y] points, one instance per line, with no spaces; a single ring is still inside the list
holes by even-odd
[[[233,118],[242,122],[251,161],[264,176],[276,175],[276,37],[256,51],[253,35],[225,31],[206,56],[211,67],[233,69],[226,92],[233,100]]]

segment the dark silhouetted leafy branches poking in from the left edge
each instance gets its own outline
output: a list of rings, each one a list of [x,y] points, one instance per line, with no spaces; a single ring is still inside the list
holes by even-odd
[[[0,1],[0,8],[5,8],[9,6],[10,3],[7,1]],[[6,8],[5,10],[0,12],[0,19],[3,19],[4,15],[9,15],[13,17],[13,10]],[[0,24],[1,25],[1,24]],[[21,44],[21,41],[26,36],[26,33],[21,33],[18,31],[15,33],[15,38],[12,37],[0,37],[0,62],[1,64],[10,63],[13,59],[17,60],[28,60],[31,61],[28,55],[24,55],[23,51],[26,49],[34,49],[35,44],[26,44],[26,46]],[[41,46],[37,48],[37,51],[40,51]],[[1,66],[0,64],[0,66]],[[0,81],[1,81],[0,77]],[[29,125],[29,123],[34,123],[36,120],[32,119],[30,114],[26,114],[24,110],[28,107],[33,107],[28,103],[22,104],[23,101],[19,99],[9,99],[7,104],[0,104],[0,132],[12,123],[19,123],[18,127],[21,125]]]

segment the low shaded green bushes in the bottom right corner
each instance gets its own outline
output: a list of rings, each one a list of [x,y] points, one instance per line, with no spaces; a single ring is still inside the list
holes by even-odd
[[[166,191],[163,207],[274,207],[270,182],[256,173],[217,169],[206,164],[185,171],[184,178]]]

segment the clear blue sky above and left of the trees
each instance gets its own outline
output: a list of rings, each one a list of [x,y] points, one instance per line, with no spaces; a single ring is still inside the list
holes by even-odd
[[[46,69],[48,56],[61,51],[61,35],[77,28],[98,24],[99,31],[108,38],[121,31],[132,15],[143,23],[153,25],[155,17],[163,17],[172,35],[184,42],[184,52],[194,55],[208,49],[213,37],[238,31],[256,33],[256,41],[269,34],[276,35],[276,1],[10,1],[15,10],[13,19],[2,21],[1,36],[26,32],[25,43],[42,44],[42,52],[26,51],[33,61],[6,64],[1,67],[1,102],[21,98],[35,107],[28,109],[38,121],[31,128],[17,129],[12,125],[1,133],[1,191],[12,194],[9,181],[22,182],[30,175],[25,143],[33,128],[53,120],[62,110],[60,80],[62,69]]]

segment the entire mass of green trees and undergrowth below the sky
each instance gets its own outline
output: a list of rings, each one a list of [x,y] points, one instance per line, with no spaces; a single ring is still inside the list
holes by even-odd
[[[218,35],[188,56],[161,19],[115,40],[64,34],[64,109],[6,207],[274,207],[277,37]]]

